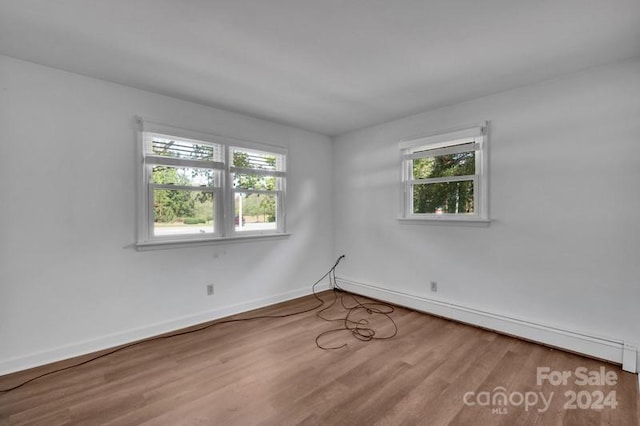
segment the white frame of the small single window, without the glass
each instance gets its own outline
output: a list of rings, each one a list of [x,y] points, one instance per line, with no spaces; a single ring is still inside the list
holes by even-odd
[[[489,170],[488,170],[488,122],[440,131],[426,136],[402,139],[401,162],[401,205],[399,220],[412,222],[447,222],[488,224],[489,219]],[[428,179],[414,179],[413,160],[475,151],[475,174]],[[473,213],[414,213],[413,187],[419,184],[473,181]]]

